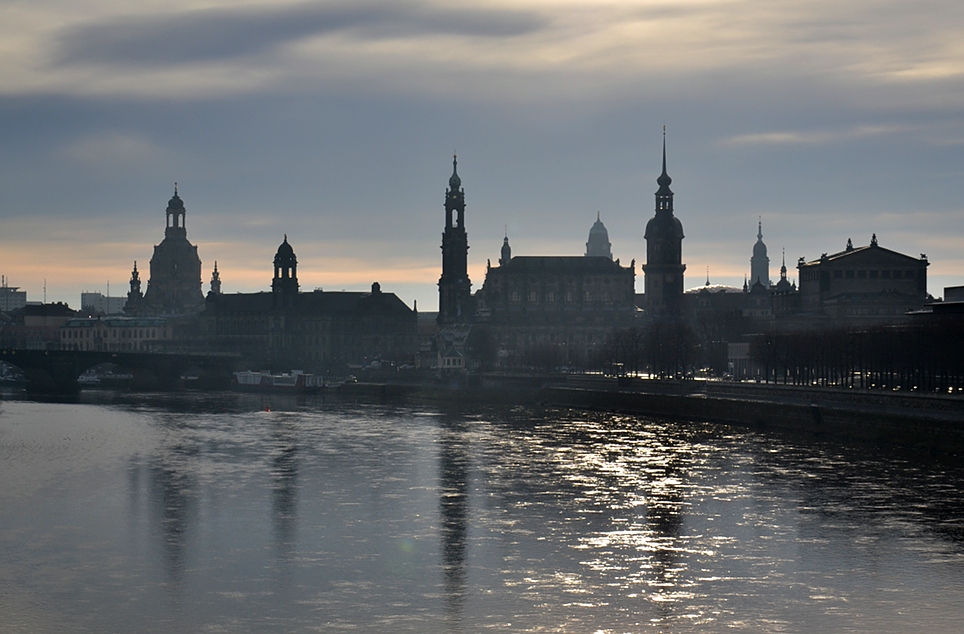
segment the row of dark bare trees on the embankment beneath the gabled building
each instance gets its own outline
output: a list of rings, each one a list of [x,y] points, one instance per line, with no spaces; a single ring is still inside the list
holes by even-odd
[[[888,390],[964,389],[964,315],[912,325],[756,335],[770,382]]]

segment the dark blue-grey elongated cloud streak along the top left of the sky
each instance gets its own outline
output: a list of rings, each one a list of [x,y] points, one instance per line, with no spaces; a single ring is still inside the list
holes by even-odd
[[[246,57],[332,33],[357,39],[510,38],[545,24],[529,11],[453,9],[405,0],[217,8],[72,26],[61,33],[56,57],[60,64],[159,67]]]

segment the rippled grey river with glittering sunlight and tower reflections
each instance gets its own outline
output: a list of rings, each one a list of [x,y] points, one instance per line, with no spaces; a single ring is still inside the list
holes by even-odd
[[[950,632],[964,468],[700,422],[0,401],[0,631]]]

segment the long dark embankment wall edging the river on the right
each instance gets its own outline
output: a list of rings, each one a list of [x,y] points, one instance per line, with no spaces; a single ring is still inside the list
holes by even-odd
[[[483,375],[470,382],[346,385],[368,399],[533,403],[717,422],[964,454],[964,396],[599,375]]]

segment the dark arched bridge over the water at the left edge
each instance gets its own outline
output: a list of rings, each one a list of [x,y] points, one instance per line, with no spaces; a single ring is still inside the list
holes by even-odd
[[[102,363],[113,363],[133,377],[131,388],[169,391],[191,383],[203,389],[227,388],[240,354],[184,352],[95,352],[80,350],[0,349],[0,361],[20,368],[30,392],[70,393],[80,389],[77,378]],[[196,379],[194,378],[196,377]]]

